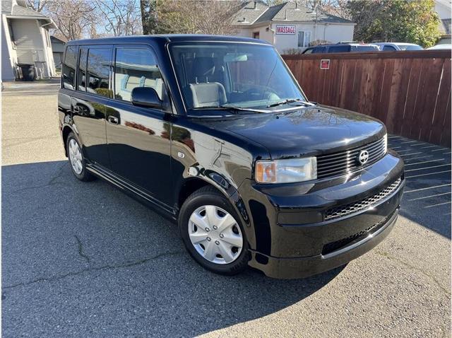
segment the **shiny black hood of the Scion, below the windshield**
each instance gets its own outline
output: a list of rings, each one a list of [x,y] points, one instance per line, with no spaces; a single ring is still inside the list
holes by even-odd
[[[316,105],[284,113],[238,115],[215,122],[268,149],[270,158],[287,158],[341,151],[381,138],[379,120],[350,110]]]

